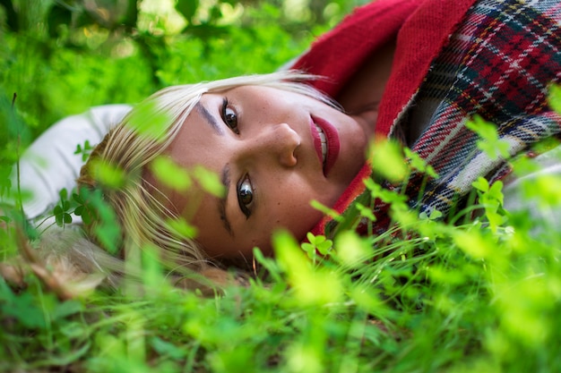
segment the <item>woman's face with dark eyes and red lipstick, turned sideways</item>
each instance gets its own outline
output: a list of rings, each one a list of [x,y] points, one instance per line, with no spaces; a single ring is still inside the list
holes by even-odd
[[[186,169],[218,174],[225,197],[192,188],[169,198],[209,256],[234,258],[255,246],[271,254],[276,228],[303,239],[321,219],[312,199],[332,207],[364,164],[371,131],[360,118],[281,89],[205,94],[167,153]]]

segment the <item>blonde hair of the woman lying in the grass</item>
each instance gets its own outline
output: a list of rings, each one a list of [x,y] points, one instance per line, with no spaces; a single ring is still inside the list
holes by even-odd
[[[141,133],[131,125],[137,106],[125,119],[94,149],[87,164],[82,167],[78,184],[89,189],[101,188],[103,199],[113,208],[121,228],[121,255],[129,255],[130,250],[138,250],[151,245],[157,248],[160,259],[170,269],[177,267],[201,271],[211,263],[203,248],[192,238],[179,233],[169,219],[176,219],[177,213],[162,203],[167,197],[149,182],[146,167],[159,157],[175,139],[182,123],[191,113],[204,93],[220,92],[239,86],[258,85],[275,89],[289,90],[314,97],[328,105],[336,106],[332,100],[313,89],[304,81],[317,79],[315,76],[301,72],[275,72],[264,75],[250,75],[229,78],[221,81],[201,82],[161,89],[148,97],[144,104],[152,106],[151,112],[144,117],[143,123],[153,119],[167,118],[166,123],[159,123],[150,128],[150,136]],[[146,130],[146,129],[144,129]],[[102,161],[117,167],[125,173],[125,183],[119,188],[107,188],[99,185],[94,167],[95,162]],[[99,222],[87,226],[87,233],[95,240],[95,227]]]

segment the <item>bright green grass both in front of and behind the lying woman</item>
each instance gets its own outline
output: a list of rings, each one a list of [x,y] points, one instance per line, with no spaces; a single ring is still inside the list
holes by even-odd
[[[101,42],[70,43],[44,30],[4,31],[2,186],[15,150],[66,114],[136,102],[168,84],[272,71],[312,37],[291,38],[272,8],[251,12],[251,26],[208,39],[111,39],[100,30]],[[127,46],[132,52],[116,57]],[[529,185],[526,198],[548,214],[560,208],[559,182]],[[211,297],[173,288],[153,267],[143,268],[142,290],[73,301],[59,301],[35,276],[18,291],[0,279],[0,371],[561,371],[558,225],[509,214],[499,189],[478,187],[485,213],[475,220],[460,211],[463,223],[446,225],[390,196],[401,233],[311,237],[322,257],[280,232],[276,259],[255,252],[255,278]],[[17,250],[13,231],[1,229],[0,259]]]

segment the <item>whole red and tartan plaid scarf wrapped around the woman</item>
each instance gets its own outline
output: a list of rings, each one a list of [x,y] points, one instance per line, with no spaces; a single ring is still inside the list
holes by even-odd
[[[295,67],[311,66],[308,71],[330,77],[334,83],[318,88],[335,96],[367,55],[397,35],[375,132],[390,137],[397,129],[427,126],[411,148],[439,178],[428,182],[419,198],[423,175],[412,174],[407,194],[411,207],[446,216],[473,181],[479,176],[493,181],[505,165],[476,147],[476,135],[465,127],[473,115],[496,123],[511,155],[560,131],[561,118],[546,100],[548,84],[561,80],[560,20],[557,0],[379,0],[321,38]],[[429,123],[417,123],[415,107],[425,100],[439,105]],[[335,210],[342,213],[365,192],[363,180],[370,173],[365,165]],[[375,232],[389,224],[385,208],[376,206]],[[326,216],[313,233],[329,233],[333,225]]]

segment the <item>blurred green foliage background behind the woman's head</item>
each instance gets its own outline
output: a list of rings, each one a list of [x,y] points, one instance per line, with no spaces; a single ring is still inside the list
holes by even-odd
[[[363,3],[0,0],[0,145],[168,85],[272,72]]]

